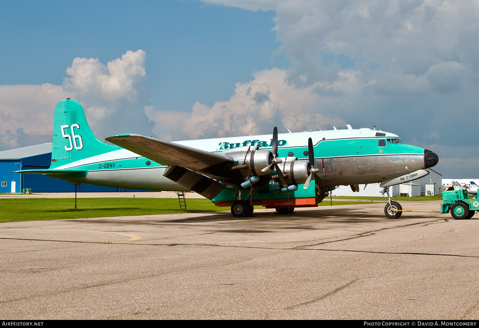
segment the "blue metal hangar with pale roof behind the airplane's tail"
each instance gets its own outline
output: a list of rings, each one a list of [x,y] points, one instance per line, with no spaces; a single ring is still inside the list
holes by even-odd
[[[75,186],[65,180],[41,174],[11,173],[19,170],[47,169],[52,161],[52,144],[22,147],[0,152],[0,192],[21,193],[23,188],[31,188],[32,192],[74,192]],[[101,187],[80,184],[80,192],[115,192],[146,191],[113,187]]]

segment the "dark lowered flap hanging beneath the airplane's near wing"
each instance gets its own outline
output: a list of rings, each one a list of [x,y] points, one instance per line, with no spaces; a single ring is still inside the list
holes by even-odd
[[[225,184],[219,181],[180,166],[168,166],[163,176],[209,200],[214,199],[226,187]]]

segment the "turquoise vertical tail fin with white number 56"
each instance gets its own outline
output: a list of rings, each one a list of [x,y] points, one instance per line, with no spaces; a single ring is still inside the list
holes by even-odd
[[[103,143],[93,134],[80,103],[67,99],[57,104],[50,168],[117,149],[118,146]]]

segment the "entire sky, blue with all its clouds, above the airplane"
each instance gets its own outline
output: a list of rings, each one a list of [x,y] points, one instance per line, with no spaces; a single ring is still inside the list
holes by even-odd
[[[71,97],[101,139],[377,125],[477,177],[478,17],[477,1],[2,0],[1,149],[51,140]]]

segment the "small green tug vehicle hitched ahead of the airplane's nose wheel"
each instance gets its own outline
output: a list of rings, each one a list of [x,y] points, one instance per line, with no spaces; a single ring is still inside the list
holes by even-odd
[[[479,211],[479,201],[476,198],[469,199],[467,189],[443,191],[443,204],[441,213],[451,211],[456,220],[470,219],[476,211]]]

